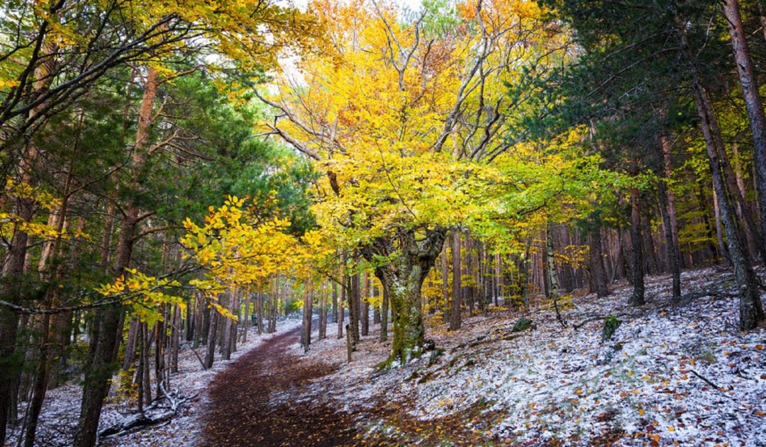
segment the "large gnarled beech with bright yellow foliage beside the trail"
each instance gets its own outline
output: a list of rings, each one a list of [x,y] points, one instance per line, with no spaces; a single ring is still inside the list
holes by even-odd
[[[530,60],[552,64],[561,47],[526,40],[543,25],[525,2],[460,3],[447,12],[460,21],[453,28],[439,28],[445,12],[428,8],[404,24],[376,2],[313,8],[334,24],[334,52],[301,60],[277,80],[277,96],[261,96],[278,113],[264,125],[322,172],[317,223],[375,266],[394,309],[384,366],[406,363],[422,352],[421,286],[449,230],[481,227],[493,207],[544,206],[501,197],[507,179],[535,177],[539,162],[503,158],[506,114],[522,104],[506,101],[503,82]]]

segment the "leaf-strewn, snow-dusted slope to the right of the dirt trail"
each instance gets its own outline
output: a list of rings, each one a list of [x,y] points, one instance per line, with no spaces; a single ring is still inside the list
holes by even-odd
[[[316,343],[304,358],[342,365],[313,387],[360,415],[364,442],[766,445],[766,331],[738,331],[731,273],[684,272],[682,284],[677,307],[669,276],[647,278],[643,308],[627,305],[627,285],[575,297],[566,328],[550,308],[468,318],[455,334],[431,326],[442,354],[378,377],[390,344],[377,333],[348,366],[345,340]],[[622,324],[602,342],[606,315]],[[536,328],[513,333],[522,316]]]

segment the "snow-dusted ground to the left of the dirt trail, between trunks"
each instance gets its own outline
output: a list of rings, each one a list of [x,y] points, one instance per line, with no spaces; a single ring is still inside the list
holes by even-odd
[[[237,351],[231,354],[231,360],[221,361],[216,352],[213,367],[209,370],[202,369],[198,357],[187,346],[182,347],[178,353],[178,373],[171,376],[171,390],[177,390],[182,396],[193,399],[183,403],[172,419],[157,426],[147,427],[129,432],[122,436],[107,437],[100,439],[99,445],[119,446],[146,446],[146,445],[197,445],[201,440],[201,416],[208,403],[206,389],[208,383],[221,370],[226,369],[237,358],[248,351],[252,351],[259,344],[273,338],[277,334],[283,334],[295,328],[300,328],[300,316],[298,318],[286,318],[277,324],[277,332],[274,334],[257,334],[257,328],[250,328],[247,333],[247,342],[237,344]],[[198,354],[204,357],[204,347],[199,347]],[[153,368],[152,368],[153,369]],[[123,419],[129,419],[136,414],[135,403],[128,403],[117,396],[117,383],[119,378],[113,379],[110,396],[103,407],[99,430],[112,426]],[[152,371],[152,393],[155,391]],[[36,437],[36,445],[63,446],[72,445],[74,432],[77,427],[77,416],[80,414],[80,400],[82,399],[82,384],[69,383],[62,387],[47,392],[45,403],[40,416],[40,425]],[[26,404],[19,409],[24,414]],[[16,445],[18,430],[11,433],[8,445]]]

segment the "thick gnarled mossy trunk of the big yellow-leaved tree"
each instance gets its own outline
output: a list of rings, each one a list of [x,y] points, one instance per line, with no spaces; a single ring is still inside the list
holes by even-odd
[[[380,237],[362,247],[369,262],[383,264],[375,269],[393,310],[394,340],[391,354],[381,364],[407,364],[423,353],[425,328],[421,287],[434,266],[447,231],[444,228],[405,230],[396,237]],[[385,259],[385,260],[384,260]]]

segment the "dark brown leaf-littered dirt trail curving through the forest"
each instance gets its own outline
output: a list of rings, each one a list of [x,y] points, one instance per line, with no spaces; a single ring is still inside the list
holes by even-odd
[[[355,424],[348,413],[301,390],[332,367],[301,362],[290,352],[300,328],[277,335],[221,371],[210,386],[201,445],[344,445]],[[299,391],[300,390],[300,391]],[[290,399],[300,392],[300,400]],[[287,396],[282,399],[281,396]]]

